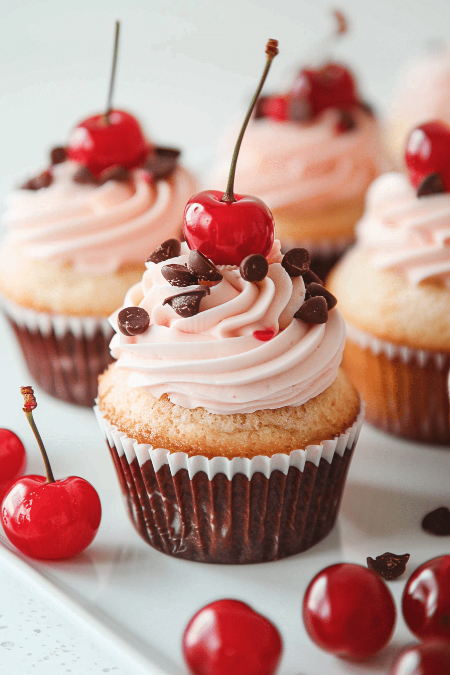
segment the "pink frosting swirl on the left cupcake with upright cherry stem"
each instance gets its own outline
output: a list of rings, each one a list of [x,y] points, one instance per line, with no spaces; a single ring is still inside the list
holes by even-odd
[[[186,169],[177,167],[157,182],[136,169],[130,181],[95,186],[74,182],[78,168],[72,161],[57,164],[48,188],[9,195],[3,216],[8,245],[31,259],[101,274],[140,264],[161,241],[179,235],[184,206],[196,190]]]

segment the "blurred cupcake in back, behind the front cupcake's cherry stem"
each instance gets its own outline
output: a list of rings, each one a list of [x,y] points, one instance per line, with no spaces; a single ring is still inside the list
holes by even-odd
[[[223,184],[229,138],[218,155],[213,175]],[[368,186],[387,167],[380,128],[353,74],[327,61],[301,70],[287,94],[258,101],[235,186],[269,206],[282,250],[307,248],[325,278],[354,241]]]

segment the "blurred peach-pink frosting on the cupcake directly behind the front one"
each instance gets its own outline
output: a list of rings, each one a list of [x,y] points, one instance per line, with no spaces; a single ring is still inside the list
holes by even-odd
[[[256,194],[270,209],[320,208],[362,196],[388,166],[376,120],[357,109],[352,115],[356,128],[343,133],[337,131],[335,109],[303,124],[252,120],[237,161],[235,191]],[[221,144],[213,171],[217,186],[227,181],[231,138]]]

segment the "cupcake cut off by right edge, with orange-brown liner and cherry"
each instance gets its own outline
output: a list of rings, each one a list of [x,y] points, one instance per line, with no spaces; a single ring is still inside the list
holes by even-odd
[[[347,323],[343,368],[377,427],[449,443],[450,128],[414,130],[410,175],[387,173],[368,191],[358,241],[327,288]]]

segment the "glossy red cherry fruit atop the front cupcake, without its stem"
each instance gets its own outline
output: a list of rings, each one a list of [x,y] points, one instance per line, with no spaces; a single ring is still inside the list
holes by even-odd
[[[189,248],[215,265],[240,265],[252,253],[267,256],[275,238],[269,207],[249,194],[235,194],[235,202],[222,202],[222,196],[220,190],[204,190],[188,201],[183,232]]]

